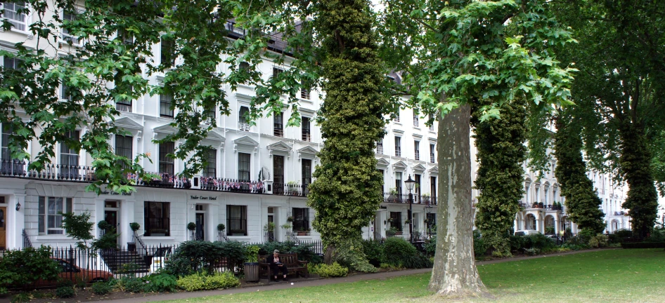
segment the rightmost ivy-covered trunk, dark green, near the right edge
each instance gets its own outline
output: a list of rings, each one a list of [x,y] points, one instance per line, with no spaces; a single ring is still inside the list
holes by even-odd
[[[619,126],[621,136],[621,173],[628,182],[628,194],[623,208],[630,210],[635,236],[645,238],[656,222],[658,193],[652,174],[652,155],[647,147],[643,128],[624,122]]]

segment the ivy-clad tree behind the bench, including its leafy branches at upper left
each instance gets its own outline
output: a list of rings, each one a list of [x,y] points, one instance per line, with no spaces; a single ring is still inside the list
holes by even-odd
[[[308,203],[316,210],[313,225],[325,244],[326,262],[351,255],[353,260],[345,260],[349,265],[372,270],[359,241],[361,228],[382,202],[382,175],[376,170],[374,149],[384,135],[384,116],[394,112],[396,102],[388,97],[385,65],[377,57],[370,3],[285,0],[252,4],[250,10],[254,11],[249,15],[258,18],[241,20],[263,32],[281,32],[293,67],[271,85],[257,88],[252,114],[259,116],[266,106],[276,112],[283,90],[321,85],[325,97],[317,122],[325,145],[318,154],[316,180],[309,186]],[[275,87],[283,90],[272,91]],[[297,123],[297,106],[294,109],[292,120]],[[342,250],[343,254],[337,253]]]

